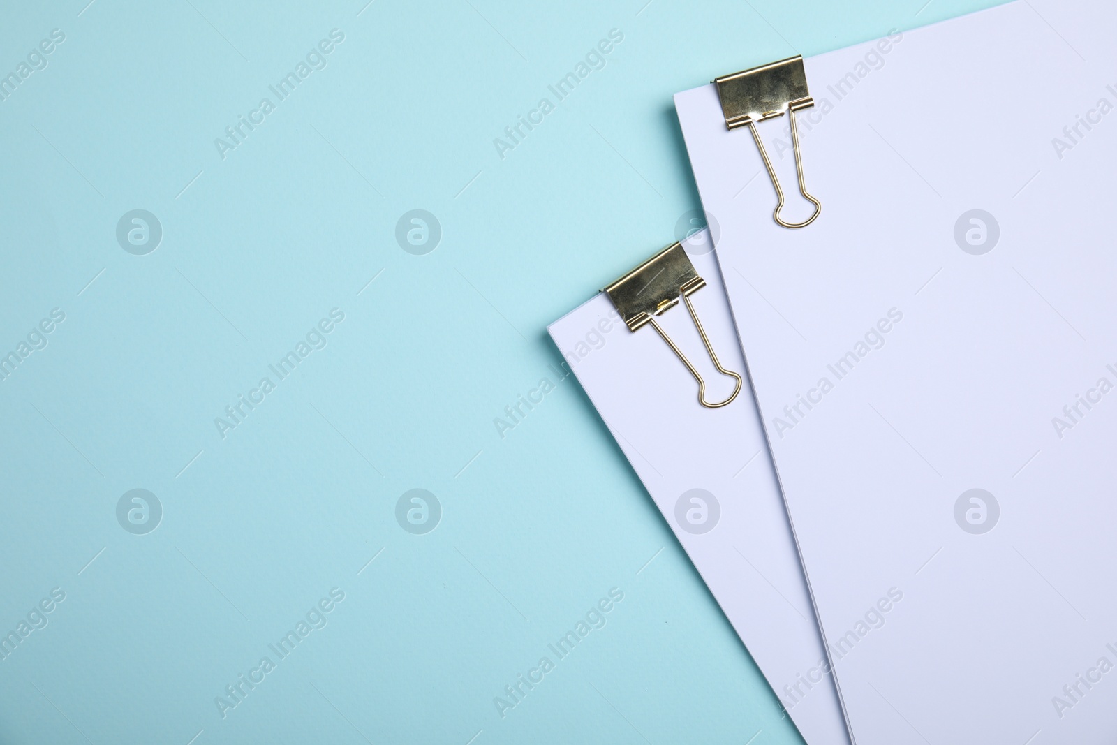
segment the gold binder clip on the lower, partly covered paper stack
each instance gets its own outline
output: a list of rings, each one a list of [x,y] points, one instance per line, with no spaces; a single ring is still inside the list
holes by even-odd
[[[697,314],[695,314],[694,306],[690,304],[690,295],[705,286],[706,280],[698,276],[694,265],[690,264],[690,259],[682,249],[682,243],[676,242],[656,254],[636,269],[632,269],[632,271],[629,271],[609,285],[609,287],[605,287],[604,292],[609,293],[609,299],[617,306],[617,311],[624,318],[629,331],[634,332],[645,324],[651,324],[651,327],[663,337],[667,345],[671,347],[671,351],[678,355],[682,364],[690,371],[690,374],[698,381],[698,403],[707,409],[717,409],[737,398],[744,380],[737,373],[723,367],[722,363],[718,362],[717,355],[714,354],[714,347],[710,346],[709,340],[706,337],[706,332],[703,329],[701,323],[698,321]],[[723,375],[729,375],[737,381],[737,386],[733,389],[733,395],[719,403],[706,402],[704,398],[706,382],[698,374],[698,371],[695,370],[695,366],[690,364],[686,355],[675,345],[675,342],[656,323],[655,316],[662,314],[674,305],[678,305],[680,296],[682,297],[682,302],[686,303],[687,311],[690,312],[690,318],[695,322],[695,327],[701,336],[703,344],[706,345],[706,352],[709,353],[709,359],[714,362],[714,366]]]

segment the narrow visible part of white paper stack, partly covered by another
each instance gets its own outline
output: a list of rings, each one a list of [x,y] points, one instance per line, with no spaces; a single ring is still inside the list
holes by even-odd
[[[695,311],[723,366],[743,374],[708,235],[685,246],[707,283],[691,295]],[[727,398],[733,381],[714,369],[686,308],[658,322],[707,380],[707,400]],[[747,383],[733,403],[700,407],[667,344],[650,326],[630,332],[604,293],[547,331],[804,739],[848,745]]]

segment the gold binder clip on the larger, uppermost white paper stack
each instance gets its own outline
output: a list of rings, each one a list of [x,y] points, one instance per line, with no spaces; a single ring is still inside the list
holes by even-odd
[[[795,112],[814,105],[810,90],[806,89],[806,73],[803,70],[802,56],[789,57],[777,63],[761,65],[752,69],[723,75],[714,80],[717,95],[722,99],[722,113],[725,114],[725,125],[731,130],[747,126],[756,141],[756,147],[764,159],[772,185],[775,187],[777,202],[772,217],[784,228],[805,228],[814,222],[822,212],[822,203],[806,192],[803,182],[803,163],[799,155],[799,130],[795,127]],[[780,218],[783,209],[783,189],[772,169],[764,143],[756,132],[756,125],[764,120],[783,116],[786,113],[791,121],[791,146],[795,153],[795,172],[799,174],[799,193],[814,204],[814,214],[802,222],[786,222]]]

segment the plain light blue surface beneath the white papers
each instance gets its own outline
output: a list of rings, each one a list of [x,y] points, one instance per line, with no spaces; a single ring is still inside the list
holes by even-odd
[[[66,35],[0,102],[0,354],[66,313],[0,382],[0,632],[66,593],[0,661],[0,742],[801,742],[573,378],[503,439],[494,419],[557,382],[545,325],[698,208],[674,93],[995,2],[86,2],[0,4],[2,75]],[[502,159],[610,29],[605,67]],[[147,256],[115,238],[136,208],[163,227]],[[426,256],[394,238],[416,208],[442,229]],[[442,505],[427,535],[394,516],[416,487]],[[132,488],[162,503],[147,535],[116,522]]]

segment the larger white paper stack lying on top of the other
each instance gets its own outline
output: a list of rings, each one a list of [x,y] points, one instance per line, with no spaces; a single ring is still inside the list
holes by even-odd
[[[715,87],[676,96],[859,745],[1117,742],[1114,12],[806,59],[800,230]]]

